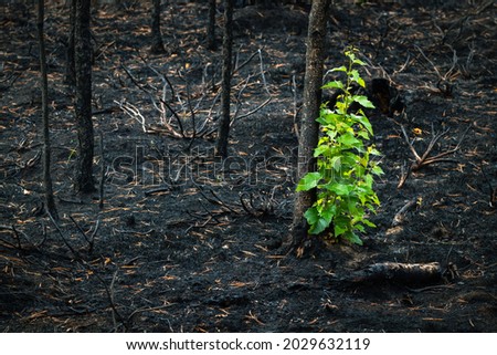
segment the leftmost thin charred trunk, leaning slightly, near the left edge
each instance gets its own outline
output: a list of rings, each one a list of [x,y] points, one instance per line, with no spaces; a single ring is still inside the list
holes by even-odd
[[[42,87],[42,121],[43,121],[43,185],[45,188],[45,208],[54,219],[57,219],[57,210],[53,198],[49,129],[49,79],[46,73],[45,39],[43,33],[45,1],[38,1],[38,40],[40,44],[40,73]]]

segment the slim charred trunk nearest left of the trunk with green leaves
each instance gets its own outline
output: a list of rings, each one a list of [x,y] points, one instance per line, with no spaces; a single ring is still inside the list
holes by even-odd
[[[223,77],[221,88],[221,121],[218,129],[215,155],[228,156],[228,137],[230,135],[230,93],[233,46],[233,0],[224,0],[224,35],[223,35]]]

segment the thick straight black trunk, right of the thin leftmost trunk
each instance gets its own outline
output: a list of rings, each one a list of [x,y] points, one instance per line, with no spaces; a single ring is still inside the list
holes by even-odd
[[[75,113],[78,140],[75,189],[80,192],[92,192],[95,190],[95,181],[93,178],[94,133],[92,122],[91,1],[75,1]]]

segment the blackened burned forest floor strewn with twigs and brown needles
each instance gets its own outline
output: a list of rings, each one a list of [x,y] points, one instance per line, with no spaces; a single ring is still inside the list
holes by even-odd
[[[102,209],[98,189],[73,190],[68,13],[47,9],[55,223],[43,212],[34,10],[2,9],[0,330],[496,332],[496,4],[334,6],[326,71],[355,45],[368,63],[362,76],[388,80],[404,109],[369,113],[384,170],[377,228],[363,246],[324,243],[297,258],[283,244],[308,13],[235,9],[233,122],[221,160],[222,17],[219,49],[209,51],[207,4],[171,3],[163,54],[149,53],[148,9],[93,12]],[[431,143],[427,158],[441,160],[408,175],[413,150],[422,157]],[[437,262],[443,278],[353,276],[385,262]]]

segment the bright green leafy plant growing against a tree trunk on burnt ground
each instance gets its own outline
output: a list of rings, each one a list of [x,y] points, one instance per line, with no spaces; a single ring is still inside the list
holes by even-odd
[[[367,140],[373,135],[372,126],[361,107],[374,108],[364,95],[356,95],[353,86],[366,87],[356,66],[366,65],[356,56],[356,50],[345,52],[348,65],[332,69],[342,72],[347,80],[332,81],[322,86],[338,90],[334,109],[321,106],[317,122],[321,136],[314,152],[317,171],[306,174],[297,191],[317,189],[315,203],[305,212],[309,233],[324,234],[338,240],[347,239],[362,244],[357,232],[376,227],[368,213],[380,205],[373,190],[373,177],[383,174],[372,156],[380,153]],[[359,107],[353,109],[353,107]]]

